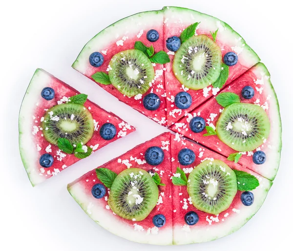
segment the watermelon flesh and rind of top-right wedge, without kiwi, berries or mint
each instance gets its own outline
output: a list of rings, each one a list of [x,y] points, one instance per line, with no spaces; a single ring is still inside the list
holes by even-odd
[[[229,78],[226,85],[247,71],[255,63],[259,62],[258,56],[246,44],[244,39],[236,33],[227,23],[218,20],[209,15],[180,7],[164,7],[164,41],[172,36],[180,36],[181,32],[190,24],[200,22],[196,29],[196,34],[205,34],[211,38],[210,32],[218,29],[216,43],[222,50],[222,56],[233,51],[238,55],[238,63],[229,67]],[[193,110],[198,105],[204,103],[207,99],[216,95],[219,88],[213,88],[211,85],[200,90],[190,90],[182,85],[175,77],[172,64],[174,52],[164,47],[170,56],[170,63],[165,65],[165,88],[167,94],[167,125],[177,122],[187,112]],[[187,91],[192,97],[192,104],[188,109],[181,110],[174,105],[174,97],[181,91]]]

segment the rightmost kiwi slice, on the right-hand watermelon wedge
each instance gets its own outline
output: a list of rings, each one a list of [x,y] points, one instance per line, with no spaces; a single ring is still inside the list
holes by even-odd
[[[236,151],[252,151],[270,134],[270,120],[258,105],[234,103],[219,117],[216,132],[221,141]]]

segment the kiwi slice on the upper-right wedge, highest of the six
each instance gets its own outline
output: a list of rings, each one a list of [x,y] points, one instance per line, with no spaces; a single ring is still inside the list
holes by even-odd
[[[192,90],[213,84],[220,76],[221,48],[206,35],[193,36],[176,51],[173,72]]]

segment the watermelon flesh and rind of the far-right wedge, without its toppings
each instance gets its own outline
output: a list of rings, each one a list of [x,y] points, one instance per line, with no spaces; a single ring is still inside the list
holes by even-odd
[[[250,85],[255,90],[252,99],[244,99],[241,95],[241,90],[247,85]],[[268,139],[264,139],[264,144],[256,149],[266,153],[266,162],[262,165],[254,164],[252,155],[255,151],[249,151],[242,152],[239,164],[248,167],[269,180],[273,180],[280,162],[282,128],[278,100],[272,87],[270,73],[266,66],[263,63],[257,63],[221,92],[236,93],[240,97],[242,103],[260,105],[267,112],[271,123],[270,136]],[[235,150],[221,142],[216,135],[203,137],[206,130],[200,133],[194,133],[189,129],[190,119],[195,116],[203,117],[207,125],[215,128],[217,119],[222,111],[223,107],[217,103],[216,99],[212,98],[205,104],[188,113],[186,117],[182,118],[178,123],[175,123],[175,125],[172,125],[170,129],[228,157],[231,153],[234,153]]]

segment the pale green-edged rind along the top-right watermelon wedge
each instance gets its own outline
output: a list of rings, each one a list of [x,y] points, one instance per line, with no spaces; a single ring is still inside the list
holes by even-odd
[[[205,13],[201,13],[201,12],[198,12],[198,11],[195,11],[195,10],[192,10],[192,9],[188,9],[188,8],[183,8],[183,7],[175,7],[175,6],[168,6],[168,7],[164,7],[163,10],[165,11],[176,11],[176,12],[190,12],[190,15],[192,14],[198,14],[200,16],[203,16],[203,17],[206,17],[206,18],[210,18],[212,19],[213,21],[215,21],[215,23],[217,21],[219,21],[219,23],[221,24],[221,26],[225,29],[227,28],[227,30],[230,31],[230,35],[232,35],[233,37],[235,38],[241,38],[241,44],[244,44],[243,47],[243,51],[241,52],[241,54],[243,54],[243,52],[245,52],[247,54],[247,58],[246,58],[246,61],[247,62],[254,62],[253,64],[257,63],[260,61],[260,58],[258,57],[258,55],[251,49],[251,47],[245,42],[245,40],[229,25],[227,24],[226,22],[224,21],[221,21],[220,19],[217,19],[213,16],[210,16],[208,14],[205,14]],[[197,20],[194,19],[194,22],[196,22]],[[198,28],[201,27],[201,23],[198,25]],[[214,30],[216,30],[217,27],[214,28]],[[214,30],[210,30],[210,31],[214,31]],[[209,32],[208,32],[209,34]],[[218,35],[220,35],[220,32],[218,32]],[[253,65],[252,64],[252,65]],[[252,66],[251,65],[251,66]]]

